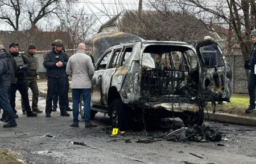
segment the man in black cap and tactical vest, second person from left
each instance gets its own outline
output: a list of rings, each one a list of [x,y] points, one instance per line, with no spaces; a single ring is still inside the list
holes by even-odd
[[[28,100],[28,90],[27,84],[24,80],[24,71],[27,70],[27,65],[24,64],[22,55],[19,54],[19,45],[16,43],[11,43],[9,45],[10,48],[10,55],[14,59],[13,67],[15,77],[11,80],[11,87],[10,87],[10,105],[13,108],[13,111],[16,113],[15,110],[15,97],[16,97],[16,90],[19,90],[19,93],[22,96],[23,103],[25,109],[27,111],[27,116],[37,116],[37,114],[32,113],[30,102]]]

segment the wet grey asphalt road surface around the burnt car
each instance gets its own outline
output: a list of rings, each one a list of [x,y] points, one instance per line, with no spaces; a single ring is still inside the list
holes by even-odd
[[[256,163],[256,127],[205,123],[224,135],[224,140],[209,143],[163,140],[168,133],[163,129],[112,136],[109,117],[104,114],[96,114],[92,120],[96,128],[84,128],[84,122],[72,128],[72,115],[60,116],[59,110],[51,118],[45,113],[27,118],[19,100],[17,96],[18,127],[5,129],[0,122],[0,149],[18,153],[29,163]],[[44,105],[41,97],[39,109],[44,110]],[[139,139],[159,141],[143,144],[137,143]]]

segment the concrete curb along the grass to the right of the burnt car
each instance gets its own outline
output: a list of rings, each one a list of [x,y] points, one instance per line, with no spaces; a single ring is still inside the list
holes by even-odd
[[[240,124],[244,126],[256,126],[256,118],[252,116],[241,116],[228,113],[208,113],[209,120],[230,123],[230,124]],[[204,111],[204,119],[208,120],[207,111]]]

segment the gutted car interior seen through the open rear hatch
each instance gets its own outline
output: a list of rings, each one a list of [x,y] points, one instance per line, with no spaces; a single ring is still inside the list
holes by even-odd
[[[151,102],[170,95],[197,96],[197,63],[197,55],[185,46],[147,46],[142,54],[142,96]]]

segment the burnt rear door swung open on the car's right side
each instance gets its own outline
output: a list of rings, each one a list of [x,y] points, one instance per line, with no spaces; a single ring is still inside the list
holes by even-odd
[[[203,54],[200,53],[200,48],[207,45],[217,45],[218,51],[223,60],[223,66],[207,67],[204,63]],[[195,44],[196,54],[200,62],[200,80],[199,80],[199,95],[204,101],[230,101],[232,90],[230,83],[232,80],[231,68],[223,51],[217,42],[213,40],[203,40]],[[231,76],[230,76],[231,75]],[[218,81],[223,85],[217,85]],[[208,85],[209,83],[209,85]]]

